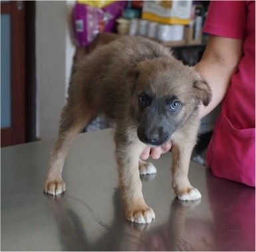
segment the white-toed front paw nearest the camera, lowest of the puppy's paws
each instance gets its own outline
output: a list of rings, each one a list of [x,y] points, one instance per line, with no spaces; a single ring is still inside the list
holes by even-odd
[[[128,221],[146,224],[151,223],[155,219],[155,213],[150,207],[143,207],[141,209],[134,209],[126,213]]]

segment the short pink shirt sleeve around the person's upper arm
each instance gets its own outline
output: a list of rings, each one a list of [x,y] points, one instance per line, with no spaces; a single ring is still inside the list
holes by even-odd
[[[246,1],[211,1],[203,32],[231,39],[244,39],[245,3]]]

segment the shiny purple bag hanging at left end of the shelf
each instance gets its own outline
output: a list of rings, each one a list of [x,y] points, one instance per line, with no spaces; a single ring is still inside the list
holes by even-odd
[[[126,4],[126,1],[116,1],[100,9],[83,3],[75,3],[73,21],[76,45],[86,47],[98,33],[111,32]]]

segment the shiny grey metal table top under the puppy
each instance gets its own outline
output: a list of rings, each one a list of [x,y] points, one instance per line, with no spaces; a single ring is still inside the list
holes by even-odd
[[[1,149],[1,250],[5,251],[255,251],[255,189],[216,178],[191,162],[199,201],[176,199],[172,155],[153,160],[142,177],[153,223],[124,219],[117,185],[113,130],[77,136],[63,178],[66,192],[43,193],[53,141]]]

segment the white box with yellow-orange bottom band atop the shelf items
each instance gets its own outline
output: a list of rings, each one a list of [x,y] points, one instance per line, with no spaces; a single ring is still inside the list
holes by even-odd
[[[188,25],[192,1],[144,1],[142,19],[168,25]]]

